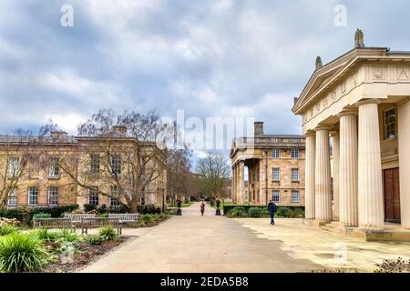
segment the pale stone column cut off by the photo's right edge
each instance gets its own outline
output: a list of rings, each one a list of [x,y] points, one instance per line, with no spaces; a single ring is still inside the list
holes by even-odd
[[[408,99],[407,99],[408,100]],[[400,216],[402,227],[410,228],[410,102],[397,106],[397,137],[400,176]]]

